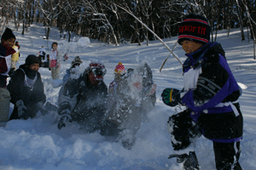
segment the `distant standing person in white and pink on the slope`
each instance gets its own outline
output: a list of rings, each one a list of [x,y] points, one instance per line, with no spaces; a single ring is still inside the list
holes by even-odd
[[[52,79],[56,80],[60,78],[61,53],[58,51],[57,42],[53,42],[51,48],[52,51],[49,54],[49,67]]]

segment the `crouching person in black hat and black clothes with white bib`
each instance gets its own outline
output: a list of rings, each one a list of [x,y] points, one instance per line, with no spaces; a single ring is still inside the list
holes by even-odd
[[[38,72],[39,63],[36,55],[28,55],[26,63],[20,65],[11,77],[8,89],[15,109],[10,120],[33,118],[38,111],[44,111],[46,96],[44,84]]]

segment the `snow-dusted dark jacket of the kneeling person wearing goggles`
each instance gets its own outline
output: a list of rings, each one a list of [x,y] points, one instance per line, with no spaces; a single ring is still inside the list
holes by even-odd
[[[63,87],[62,87],[63,88]],[[107,111],[108,88],[104,82],[92,85],[84,71],[78,79],[69,78],[59,94],[59,114],[71,111],[73,121],[79,122],[88,132],[102,127]]]

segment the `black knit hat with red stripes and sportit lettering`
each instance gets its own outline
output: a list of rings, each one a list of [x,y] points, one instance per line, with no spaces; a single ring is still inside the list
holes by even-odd
[[[189,14],[178,28],[177,42],[181,44],[184,40],[189,40],[205,44],[210,41],[210,33],[211,26],[205,17]]]

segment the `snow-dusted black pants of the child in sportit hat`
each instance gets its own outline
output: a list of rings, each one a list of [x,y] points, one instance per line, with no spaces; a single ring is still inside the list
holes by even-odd
[[[168,127],[171,133],[173,150],[183,150],[191,144],[195,137],[201,135],[200,123],[195,123],[185,110],[169,117]],[[215,164],[218,170],[241,170],[238,162],[241,153],[240,142],[213,142]]]

